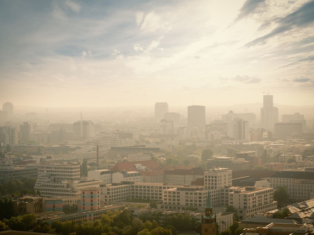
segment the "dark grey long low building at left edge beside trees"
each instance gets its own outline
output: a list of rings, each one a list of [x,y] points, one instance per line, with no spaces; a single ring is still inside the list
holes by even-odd
[[[37,165],[15,167],[7,162],[0,163],[0,183],[8,183],[9,179],[37,178]]]

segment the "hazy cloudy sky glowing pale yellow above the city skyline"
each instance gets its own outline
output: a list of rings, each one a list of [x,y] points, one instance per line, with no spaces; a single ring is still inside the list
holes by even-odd
[[[0,101],[314,105],[314,1],[0,1]]]

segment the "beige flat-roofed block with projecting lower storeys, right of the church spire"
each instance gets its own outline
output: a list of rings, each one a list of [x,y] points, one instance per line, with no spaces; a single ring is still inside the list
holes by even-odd
[[[277,201],[273,201],[273,188],[236,189],[229,193],[229,205],[235,207],[240,220],[257,212],[277,209]]]

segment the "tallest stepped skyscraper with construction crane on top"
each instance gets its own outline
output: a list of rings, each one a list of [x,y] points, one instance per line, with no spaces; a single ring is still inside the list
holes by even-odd
[[[273,107],[273,96],[264,95],[261,108],[261,127],[268,131],[274,130],[274,124],[278,122],[278,108]]]

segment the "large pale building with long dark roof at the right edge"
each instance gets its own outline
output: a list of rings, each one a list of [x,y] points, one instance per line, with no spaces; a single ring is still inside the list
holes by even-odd
[[[313,168],[299,170],[281,170],[270,177],[270,186],[283,186],[293,201],[305,201],[314,198]]]

